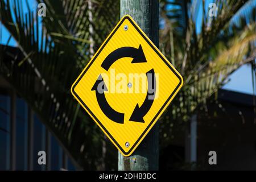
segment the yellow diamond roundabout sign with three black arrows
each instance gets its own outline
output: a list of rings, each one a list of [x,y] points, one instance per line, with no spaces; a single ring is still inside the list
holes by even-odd
[[[125,156],[131,155],[183,79],[131,16],[124,16],[71,92]]]

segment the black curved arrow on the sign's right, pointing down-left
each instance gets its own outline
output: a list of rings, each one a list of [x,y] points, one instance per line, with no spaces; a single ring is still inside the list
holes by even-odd
[[[154,75],[154,79],[152,79],[152,75]],[[144,117],[144,115],[147,114],[148,110],[150,110],[150,107],[152,106],[152,104],[154,102],[154,98],[155,98],[155,91],[156,91],[156,85],[155,85],[156,82],[155,81],[156,81],[155,80],[155,72],[154,72],[154,69],[151,69],[150,71],[147,72],[147,83],[148,83],[148,85],[151,84],[152,93],[147,91],[146,99],[144,100],[141,107],[139,107],[139,104],[137,104],[135,106],[135,109],[133,111],[133,114],[131,114],[129,121],[142,122],[142,123],[145,122],[143,117]],[[149,86],[148,86],[148,88],[149,88]]]

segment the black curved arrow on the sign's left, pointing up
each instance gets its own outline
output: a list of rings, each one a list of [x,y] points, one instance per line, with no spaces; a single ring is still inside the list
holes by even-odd
[[[100,105],[101,110],[106,115],[106,117],[108,117],[114,122],[123,124],[124,114],[115,111],[112,107],[110,107],[108,101],[106,101],[104,91],[108,91],[108,88],[106,87],[101,75],[96,80],[95,84],[92,87],[92,90],[96,91],[98,105]]]

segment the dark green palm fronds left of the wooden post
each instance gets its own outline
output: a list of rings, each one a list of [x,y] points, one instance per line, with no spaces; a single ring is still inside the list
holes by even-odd
[[[77,167],[97,169],[103,134],[70,89],[118,22],[119,2],[90,1],[90,7],[89,1],[83,0],[42,2],[47,7],[47,16],[42,19],[36,10],[24,14],[20,1],[0,2],[1,22],[20,50],[15,53],[11,47],[0,47],[0,73],[38,114]],[[107,18],[110,8],[114,15]]]

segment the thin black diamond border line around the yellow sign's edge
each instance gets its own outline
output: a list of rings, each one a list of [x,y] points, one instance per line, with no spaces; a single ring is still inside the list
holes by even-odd
[[[150,124],[146,127],[146,129],[143,131],[143,133],[141,134],[141,136],[137,139],[137,141],[134,143],[134,145],[130,148],[130,150],[128,152],[125,152],[123,150],[123,148],[118,144],[118,142],[114,139],[114,137],[112,137],[112,135],[109,133],[108,130],[106,130],[106,128],[104,127],[104,125],[102,125],[102,123],[100,122],[100,120],[98,120],[98,118],[92,113],[92,111],[89,109],[88,106],[85,105],[85,103],[81,100],[81,98],[77,95],[77,93],[75,92],[75,87],[76,85],[79,83],[79,81],[81,80],[81,78],[84,76],[84,74],[88,71],[88,69],[90,68],[90,66],[93,64],[93,62],[97,59],[98,55],[101,53],[102,49],[104,49],[104,47],[106,46],[106,44],[109,42],[109,40],[112,38],[112,36],[115,34],[115,32],[118,30],[118,28],[121,26],[121,24],[123,23],[124,20],[128,19],[129,22],[131,24],[133,24],[133,26],[136,28],[136,30],[139,32],[139,34],[141,34],[141,36],[144,38],[144,40],[146,40],[146,42],[151,46],[151,48],[158,54],[158,56],[164,61],[164,63],[166,63],[166,65],[171,69],[172,72],[174,72],[174,74],[179,78],[179,84],[176,86],[176,88],[174,89],[174,92],[171,93],[170,97],[168,97],[167,101],[164,102],[164,105],[160,108],[160,110],[158,111],[158,113],[156,113],[155,117],[152,119],[152,121],[150,122]],[[158,117],[158,115],[160,114],[160,112],[164,109],[164,107],[167,105],[168,101],[170,101],[171,97],[174,95],[174,93],[176,92],[176,90],[179,88],[181,84],[181,77],[176,73],[176,71],[174,71],[174,69],[170,66],[170,64],[167,63],[167,61],[163,58],[162,55],[160,55],[160,53],[156,50],[156,48],[152,45],[152,43],[150,41],[148,41],[148,39],[146,38],[146,36],[144,36],[144,34],[142,34],[141,30],[139,30],[139,28],[134,24],[133,20],[130,19],[129,16],[125,16],[122,21],[118,24],[117,27],[115,27],[114,31],[112,32],[112,34],[109,36],[109,38],[106,40],[106,42],[104,43],[104,45],[101,47],[100,51],[97,52],[97,55],[93,57],[93,60],[90,61],[88,67],[86,67],[86,69],[82,72],[82,75],[79,77],[79,79],[76,81],[76,83],[73,85],[72,87],[72,92],[75,94],[75,96],[79,99],[79,101],[82,103],[82,105],[89,111],[89,113],[93,116],[94,119],[96,119],[96,121],[98,122],[98,124],[102,127],[102,129],[104,129],[104,131],[109,135],[109,137],[113,140],[113,142],[118,146],[118,148],[123,152],[123,154],[128,155],[133,148],[137,145],[137,143],[139,142],[139,140],[141,140],[141,138],[144,136],[144,134],[147,132],[147,130],[150,128],[150,126],[152,125],[152,123],[155,121],[155,119]],[[145,136],[146,137],[146,136]]]

